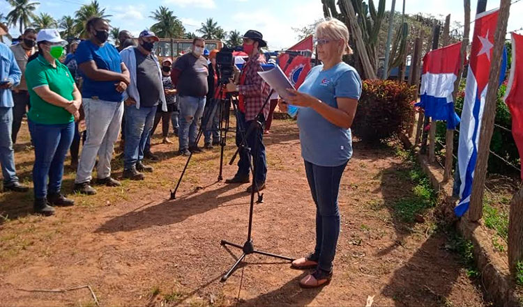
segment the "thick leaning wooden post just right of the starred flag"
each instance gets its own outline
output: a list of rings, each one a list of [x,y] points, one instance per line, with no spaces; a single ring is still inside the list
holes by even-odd
[[[487,175],[487,163],[490,154],[490,141],[494,131],[494,118],[496,116],[496,102],[499,88],[499,72],[501,70],[501,58],[507,31],[508,15],[510,14],[510,0],[501,0],[496,33],[494,34],[494,52],[490,63],[489,84],[483,119],[481,120],[481,132],[479,137],[478,160],[474,169],[472,182],[472,193],[470,199],[471,221],[478,221],[483,216],[483,192],[485,186],[485,175]]]

